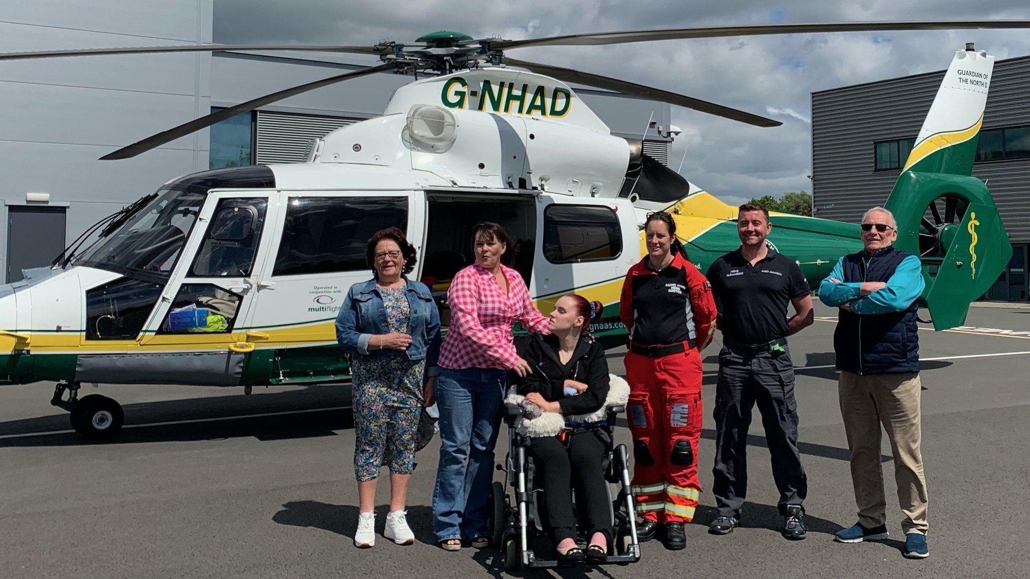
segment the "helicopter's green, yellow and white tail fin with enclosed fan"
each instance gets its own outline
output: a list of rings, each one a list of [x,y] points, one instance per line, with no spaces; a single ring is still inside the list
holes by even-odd
[[[991,192],[969,176],[993,65],[984,53],[955,55],[886,204],[898,222],[895,246],[923,262],[936,330],[963,325],[1012,253]]]

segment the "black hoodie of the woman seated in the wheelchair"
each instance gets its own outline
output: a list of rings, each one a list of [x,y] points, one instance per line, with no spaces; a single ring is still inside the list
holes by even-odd
[[[580,336],[569,364],[558,359],[558,338],[553,334],[516,336],[515,349],[533,369],[525,377],[508,373],[518,394],[540,393],[544,400],[557,402],[564,415],[588,414],[604,406],[608,398],[608,360],[605,348],[592,336]],[[587,389],[566,397],[564,382],[570,378],[585,383]]]

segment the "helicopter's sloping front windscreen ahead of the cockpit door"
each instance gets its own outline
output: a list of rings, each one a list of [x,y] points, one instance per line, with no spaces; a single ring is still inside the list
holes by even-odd
[[[160,192],[116,232],[88,249],[78,264],[167,278],[206,197],[198,192]]]

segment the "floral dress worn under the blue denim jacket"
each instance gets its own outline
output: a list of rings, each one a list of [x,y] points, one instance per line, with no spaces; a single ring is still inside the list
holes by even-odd
[[[383,299],[389,332],[410,333],[411,311],[405,286],[376,288]],[[383,465],[396,474],[415,468],[418,418],[422,408],[425,360],[410,360],[399,350],[355,354],[354,475],[358,481],[379,476]]]

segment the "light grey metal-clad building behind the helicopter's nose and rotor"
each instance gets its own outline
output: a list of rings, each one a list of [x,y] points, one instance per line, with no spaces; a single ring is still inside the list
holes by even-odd
[[[210,43],[217,40],[212,2],[4,0],[0,52]],[[271,52],[0,63],[0,283],[22,279],[25,268],[49,265],[91,225],[169,179],[208,168],[299,161],[311,137],[381,114],[393,91],[412,77],[374,74],[279,101],[134,159],[99,157],[212,108],[370,64],[335,54]],[[671,139],[655,127],[668,127],[670,105],[576,92],[614,134],[641,138],[646,132],[647,150],[667,157]]]

